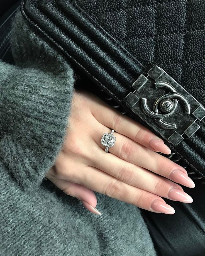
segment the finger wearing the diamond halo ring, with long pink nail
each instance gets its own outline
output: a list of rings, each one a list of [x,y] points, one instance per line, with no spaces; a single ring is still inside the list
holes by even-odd
[[[99,134],[110,133],[111,129],[98,123],[98,129],[95,129],[95,131],[93,139],[101,148],[105,149],[101,144]],[[114,132],[113,135],[116,136],[116,142],[113,147],[109,148],[110,153],[184,186],[195,187],[194,182],[188,177],[186,170],[180,165],[120,133]]]

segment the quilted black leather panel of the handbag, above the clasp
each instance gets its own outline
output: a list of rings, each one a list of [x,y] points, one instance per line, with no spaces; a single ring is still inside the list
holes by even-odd
[[[205,106],[205,2],[74,0],[143,65],[157,64]],[[91,8],[92,6],[92,8]],[[183,153],[204,171],[205,121]],[[203,125],[203,126],[202,126]],[[179,148],[179,147],[178,147]],[[194,150],[193,150],[194,148]],[[195,153],[194,153],[195,151]]]

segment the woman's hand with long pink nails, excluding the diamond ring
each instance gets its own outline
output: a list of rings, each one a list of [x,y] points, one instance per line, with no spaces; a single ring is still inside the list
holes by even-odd
[[[174,183],[195,186],[186,170],[156,153],[171,153],[163,140],[97,96],[75,91],[69,124],[64,147],[47,178],[92,213],[101,214],[93,191],[167,214],[175,211],[161,197],[193,201]],[[106,153],[101,137],[112,129],[116,142]]]

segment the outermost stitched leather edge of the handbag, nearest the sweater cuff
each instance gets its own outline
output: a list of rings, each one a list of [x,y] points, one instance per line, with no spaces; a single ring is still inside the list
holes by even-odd
[[[64,48],[62,48],[57,42],[55,42],[55,40],[53,40],[45,31],[43,31],[35,22],[33,22],[28,15],[25,13],[24,8],[23,8],[23,4],[24,4],[24,0],[21,1],[21,12],[23,13],[23,15],[26,17],[26,19],[28,19],[28,21],[30,21],[31,24],[33,24],[36,28],[38,28],[44,35],[47,36],[47,38],[49,38],[51,40],[51,42],[53,42],[55,45],[57,45],[64,53],[66,53],[67,56],[69,56],[70,59],[72,59],[76,64],[78,64],[80,66],[81,69],[83,69],[87,74],[90,75],[90,77],[92,77],[92,79],[94,81],[96,81],[98,84],[100,84],[102,86],[102,88],[104,88],[105,91],[108,91],[109,94],[111,94],[115,99],[117,99],[119,102],[121,102],[121,99],[119,99],[116,95],[113,94],[113,92],[111,92],[107,87],[105,87],[98,79],[96,79],[96,77],[94,77],[88,70],[86,70],[77,60],[75,60],[75,58],[73,58],[67,51],[64,50]],[[37,8],[36,8],[37,9]],[[40,11],[41,12],[41,11]],[[43,14],[43,13],[42,13]],[[43,14],[44,15],[44,14]],[[44,15],[45,16],[45,15]]]

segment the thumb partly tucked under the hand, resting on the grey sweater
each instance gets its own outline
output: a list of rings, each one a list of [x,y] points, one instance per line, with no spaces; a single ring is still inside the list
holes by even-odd
[[[49,177],[49,179],[65,194],[79,199],[85,206],[85,208],[88,209],[91,213],[95,213],[98,215],[102,214],[95,208],[97,205],[97,198],[95,193],[91,189],[83,185],[58,178]]]

